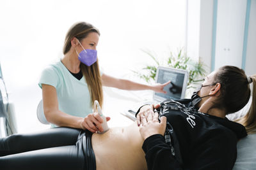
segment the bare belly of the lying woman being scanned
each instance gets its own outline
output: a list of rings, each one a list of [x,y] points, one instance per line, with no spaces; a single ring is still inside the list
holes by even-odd
[[[104,134],[93,134],[92,146],[97,170],[147,169],[143,139],[138,126],[115,127]]]

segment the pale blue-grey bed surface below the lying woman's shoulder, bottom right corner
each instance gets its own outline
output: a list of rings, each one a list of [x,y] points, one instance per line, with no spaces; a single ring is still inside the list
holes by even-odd
[[[237,143],[237,159],[233,170],[250,170],[256,167],[256,134],[249,134]]]

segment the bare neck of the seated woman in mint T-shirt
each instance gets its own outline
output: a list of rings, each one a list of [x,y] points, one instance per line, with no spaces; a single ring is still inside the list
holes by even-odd
[[[76,52],[71,52],[70,50],[64,55],[64,57],[61,59],[61,62],[70,72],[79,73],[81,62],[78,59]]]

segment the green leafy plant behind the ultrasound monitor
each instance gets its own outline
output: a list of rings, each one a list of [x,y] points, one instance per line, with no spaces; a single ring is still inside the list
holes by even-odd
[[[182,48],[179,49],[177,53],[170,52],[170,56],[168,56],[167,60],[163,61],[163,64],[160,64],[159,60],[157,60],[157,57],[155,57],[152,52],[147,50],[142,51],[147,53],[148,56],[154,60],[154,64],[143,67],[143,71],[133,72],[148,83],[155,80],[158,66],[187,70],[189,72],[187,89],[195,89],[195,85],[202,82],[206,74],[204,63],[200,60],[198,62],[192,60],[186,55]]]

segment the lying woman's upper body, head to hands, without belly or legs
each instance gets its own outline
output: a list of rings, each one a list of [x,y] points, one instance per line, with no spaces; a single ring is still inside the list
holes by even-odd
[[[236,120],[239,124],[229,121],[226,115],[248,103],[250,83],[250,110]],[[152,116],[154,109],[161,123]],[[232,169],[237,141],[246,133],[256,135],[256,74],[246,76],[238,67],[220,67],[205,77],[191,99],[143,106],[136,116],[148,169]]]

